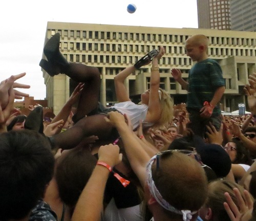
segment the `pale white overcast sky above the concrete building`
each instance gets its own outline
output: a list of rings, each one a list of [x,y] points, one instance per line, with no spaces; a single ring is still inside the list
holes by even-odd
[[[127,5],[137,10],[130,14]],[[34,99],[45,99],[46,86],[39,62],[48,21],[198,28],[197,0],[3,0],[0,9],[0,81],[26,72],[17,80],[30,84]]]

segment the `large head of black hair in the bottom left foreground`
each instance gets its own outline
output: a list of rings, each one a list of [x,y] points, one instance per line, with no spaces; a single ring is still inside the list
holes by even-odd
[[[44,196],[54,169],[48,140],[32,130],[0,135],[0,220],[26,217]]]

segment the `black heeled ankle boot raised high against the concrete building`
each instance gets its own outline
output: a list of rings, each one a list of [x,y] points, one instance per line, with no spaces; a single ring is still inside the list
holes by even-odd
[[[48,69],[50,73],[52,74],[54,73],[54,75],[59,73],[64,73],[65,70],[69,67],[69,62],[59,51],[59,42],[60,42],[60,35],[59,33],[56,33],[47,41],[44,47],[44,54],[46,55],[47,60],[48,62],[51,63],[51,65],[49,63],[47,64],[45,61],[41,61],[42,63],[40,62],[42,65],[44,65]],[[58,69],[60,70],[59,73],[56,73],[56,67],[58,67]],[[49,70],[50,68],[54,68],[55,70]]]

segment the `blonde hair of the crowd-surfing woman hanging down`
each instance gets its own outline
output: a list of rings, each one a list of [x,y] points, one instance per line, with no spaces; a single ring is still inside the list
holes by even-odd
[[[164,125],[166,123],[172,122],[174,116],[174,104],[173,99],[170,95],[163,89],[159,88],[162,92],[160,106],[161,106],[161,117],[156,123],[157,125]]]

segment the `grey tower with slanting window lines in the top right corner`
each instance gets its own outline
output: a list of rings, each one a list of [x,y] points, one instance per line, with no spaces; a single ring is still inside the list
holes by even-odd
[[[256,0],[230,0],[231,29],[256,31]]]

